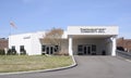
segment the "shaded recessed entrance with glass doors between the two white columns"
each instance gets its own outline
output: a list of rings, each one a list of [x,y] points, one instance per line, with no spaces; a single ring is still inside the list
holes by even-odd
[[[88,37],[88,36],[87,36]],[[110,55],[112,41],[108,37],[72,37],[72,50],[76,55]],[[104,53],[105,52],[105,53]]]

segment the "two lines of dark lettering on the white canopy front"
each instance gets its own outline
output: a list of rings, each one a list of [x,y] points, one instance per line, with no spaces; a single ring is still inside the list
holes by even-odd
[[[81,28],[81,32],[106,32],[106,28]]]

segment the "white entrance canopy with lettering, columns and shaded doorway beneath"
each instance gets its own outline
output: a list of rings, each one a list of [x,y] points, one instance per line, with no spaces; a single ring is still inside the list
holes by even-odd
[[[69,26],[69,54],[116,55],[117,26]]]

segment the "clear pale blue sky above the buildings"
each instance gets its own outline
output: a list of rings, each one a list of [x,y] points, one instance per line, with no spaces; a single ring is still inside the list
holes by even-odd
[[[0,38],[68,26],[119,26],[129,39],[131,0],[0,0]]]

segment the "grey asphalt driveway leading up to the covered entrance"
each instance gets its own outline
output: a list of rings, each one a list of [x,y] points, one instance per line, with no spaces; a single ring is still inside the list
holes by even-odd
[[[75,56],[78,66],[50,73],[4,75],[0,78],[131,78],[131,62],[112,56]]]

